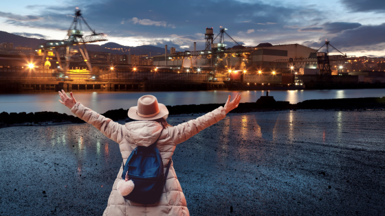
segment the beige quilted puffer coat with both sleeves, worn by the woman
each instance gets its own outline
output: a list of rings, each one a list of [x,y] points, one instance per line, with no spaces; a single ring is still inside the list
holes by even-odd
[[[226,115],[225,109],[219,107],[197,119],[163,130],[162,125],[156,121],[133,121],[126,123],[126,125],[120,125],[83,106],[80,102],[75,104],[71,112],[87,123],[94,125],[109,139],[119,143],[124,164],[135,147],[138,145],[149,146],[156,142],[157,148],[162,155],[165,171],[177,144],[190,139],[191,136],[217,123]],[[124,200],[116,190],[118,181],[122,179],[122,171],[123,169],[120,167],[103,215],[190,215],[173,164],[171,164],[168,171],[166,184],[159,202],[151,205]]]

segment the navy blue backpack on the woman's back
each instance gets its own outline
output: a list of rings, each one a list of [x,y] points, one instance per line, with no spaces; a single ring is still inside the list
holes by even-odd
[[[135,187],[124,199],[141,204],[155,204],[162,195],[164,184],[170,169],[170,159],[167,165],[166,173],[163,173],[164,166],[162,156],[155,143],[148,147],[138,146],[133,149],[126,165],[123,165],[122,179],[126,173],[129,180],[133,180]],[[122,162],[123,164],[123,162]]]

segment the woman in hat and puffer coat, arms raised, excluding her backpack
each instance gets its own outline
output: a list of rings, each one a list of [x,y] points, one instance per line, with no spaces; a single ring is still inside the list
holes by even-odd
[[[74,115],[91,123],[109,139],[119,143],[124,164],[135,147],[148,147],[156,143],[165,169],[177,144],[190,139],[201,130],[223,119],[230,110],[238,107],[241,100],[241,95],[237,94],[234,100],[230,101],[229,95],[224,108],[219,107],[197,119],[173,127],[166,121],[168,116],[166,106],[158,104],[153,95],[144,95],[138,99],[138,106],[131,107],[128,116],[140,121],[129,122],[126,125],[115,123],[83,106],[80,102],[76,102],[72,93],[70,93],[71,97],[68,97],[62,90],[59,91],[59,95],[61,104],[70,108]],[[124,200],[124,197],[117,191],[117,184],[122,180],[122,171],[123,169],[120,167],[103,215],[189,215],[186,198],[177,180],[172,162],[162,196],[155,204],[146,205]]]

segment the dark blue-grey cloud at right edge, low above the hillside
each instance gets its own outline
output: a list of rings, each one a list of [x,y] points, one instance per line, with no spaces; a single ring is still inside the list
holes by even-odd
[[[375,50],[374,47],[385,43],[385,23],[381,25],[362,25],[355,29],[347,29],[337,36],[320,38],[320,42],[305,43],[309,47],[321,47],[324,44],[324,40],[327,39],[330,43],[338,48],[347,48],[354,50],[355,47],[366,46],[366,50]],[[338,49],[340,49],[338,48]],[[342,50],[341,50],[342,51]]]

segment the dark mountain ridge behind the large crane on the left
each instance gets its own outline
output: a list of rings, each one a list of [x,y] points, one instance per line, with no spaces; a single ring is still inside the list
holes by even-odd
[[[47,40],[40,38],[28,38],[24,36],[19,36],[17,34],[11,34],[8,32],[2,32],[0,31],[0,43],[13,43],[14,47],[19,46],[27,46],[32,47],[32,49],[36,49],[39,44],[45,43]],[[118,43],[105,43],[104,45],[93,45],[93,44],[87,44],[87,50],[88,51],[100,51],[100,52],[109,52],[113,54],[150,54],[151,56],[155,55],[162,55],[164,54],[164,48],[162,47],[155,47],[151,45],[143,45],[138,47],[128,47],[123,46]],[[168,53],[170,53],[170,50],[168,50]]]

